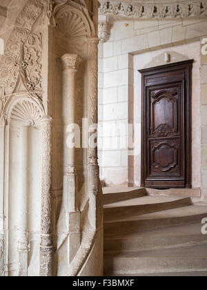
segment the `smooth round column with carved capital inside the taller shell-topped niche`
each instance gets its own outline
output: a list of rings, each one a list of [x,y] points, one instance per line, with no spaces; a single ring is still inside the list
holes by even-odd
[[[67,212],[68,264],[72,262],[81,242],[80,213],[77,205],[78,180],[75,162],[75,148],[67,144],[68,125],[75,124],[75,91],[76,73],[81,58],[78,55],[63,55],[63,124],[64,124],[64,152],[63,152],[63,198]],[[72,125],[73,126],[73,125]]]

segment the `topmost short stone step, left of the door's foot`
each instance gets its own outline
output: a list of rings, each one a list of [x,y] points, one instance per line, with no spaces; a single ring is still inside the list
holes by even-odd
[[[120,202],[121,200],[130,200],[146,195],[146,189],[135,187],[104,187],[103,204]]]

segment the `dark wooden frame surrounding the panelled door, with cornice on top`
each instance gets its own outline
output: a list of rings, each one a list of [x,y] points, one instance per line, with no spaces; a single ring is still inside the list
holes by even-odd
[[[141,73],[141,187],[146,186],[146,77],[158,75],[173,70],[181,70],[185,75],[186,89],[184,92],[185,99],[185,150],[186,150],[186,189],[192,188],[192,69],[194,59],[179,61],[173,64],[156,66],[138,70]],[[179,188],[179,186],[161,186],[163,189]],[[153,186],[152,186],[153,188]]]

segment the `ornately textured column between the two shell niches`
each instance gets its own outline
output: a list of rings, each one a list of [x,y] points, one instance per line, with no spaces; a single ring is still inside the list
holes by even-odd
[[[41,180],[41,244],[40,276],[54,276],[55,245],[52,235],[52,196],[51,160],[52,160],[52,118],[42,119],[42,180]]]

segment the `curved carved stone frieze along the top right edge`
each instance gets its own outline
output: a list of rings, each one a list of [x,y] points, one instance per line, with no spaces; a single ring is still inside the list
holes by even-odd
[[[181,3],[131,3],[127,1],[99,0],[99,14],[138,18],[175,18],[207,16],[207,0],[181,1]]]

